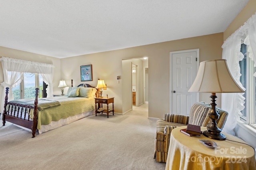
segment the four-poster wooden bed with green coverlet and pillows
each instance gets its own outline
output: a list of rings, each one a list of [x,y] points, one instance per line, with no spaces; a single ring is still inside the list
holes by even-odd
[[[39,88],[35,98],[20,99],[8,102],[9,88],[6,88],[3,126],[6,121],[31,129],[32,137],[63,125],[72,123],[89,115],[95,114],[94,98],[97,89],[89,84],[80,84],[68,88],[65,96],[38,99]]]

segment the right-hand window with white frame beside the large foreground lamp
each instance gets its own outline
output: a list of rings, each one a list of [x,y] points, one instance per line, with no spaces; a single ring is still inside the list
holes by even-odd
[[[241,52],[244,55],[244,59],[239,62],[241,77],[240,82],[246,88],[244,93],[244,106],[245,108],[241,111],[242,121],[255,127],[256,124],[256,79],[253,76],[255,72],[254,62],[247,57],[247,48],[245,44],[241,45]]]

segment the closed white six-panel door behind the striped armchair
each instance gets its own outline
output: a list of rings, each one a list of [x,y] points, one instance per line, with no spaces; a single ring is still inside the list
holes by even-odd
[[[198,50],[198,49],[196,49]],[[172,70],[170,75],[170,109],[173,114],[188,116],[192,105],[198,102],[195,92],[188,92],[190,86],[196,78],[197,56],[199,51],[186,50],[171,52],[170,61],[172,61]],[[198,59],[199,61],[199,59]]]

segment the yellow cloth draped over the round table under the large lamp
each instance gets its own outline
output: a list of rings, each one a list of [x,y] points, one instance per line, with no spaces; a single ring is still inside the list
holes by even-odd
[[[185,128],[172,130],[166,170],[256,170],[254,149],[242,144],[245,142],[241,139],[229,134],[225,134],[226,138],[232,141],[218,141],[204,135],[189,137],[180,132]],[[201,127],[201,131],[205,130],[206,127]],[[202,139],[214,141],[217,147],[204,146],[199,141]]]

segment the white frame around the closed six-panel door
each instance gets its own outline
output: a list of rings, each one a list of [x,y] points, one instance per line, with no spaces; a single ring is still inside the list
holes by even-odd
[[[176,53],[189,53],[189,52],[196,52],[196,73],[198,72],[200,60],[199,60],[199,49],[190,49],[190,50],[182,50],[182,51],[172,51],[170,52],[170,108],[169,108],[169,113],[172,113],[172,55]],[[199,102],[199,93],[196,93],[196,102]]]

